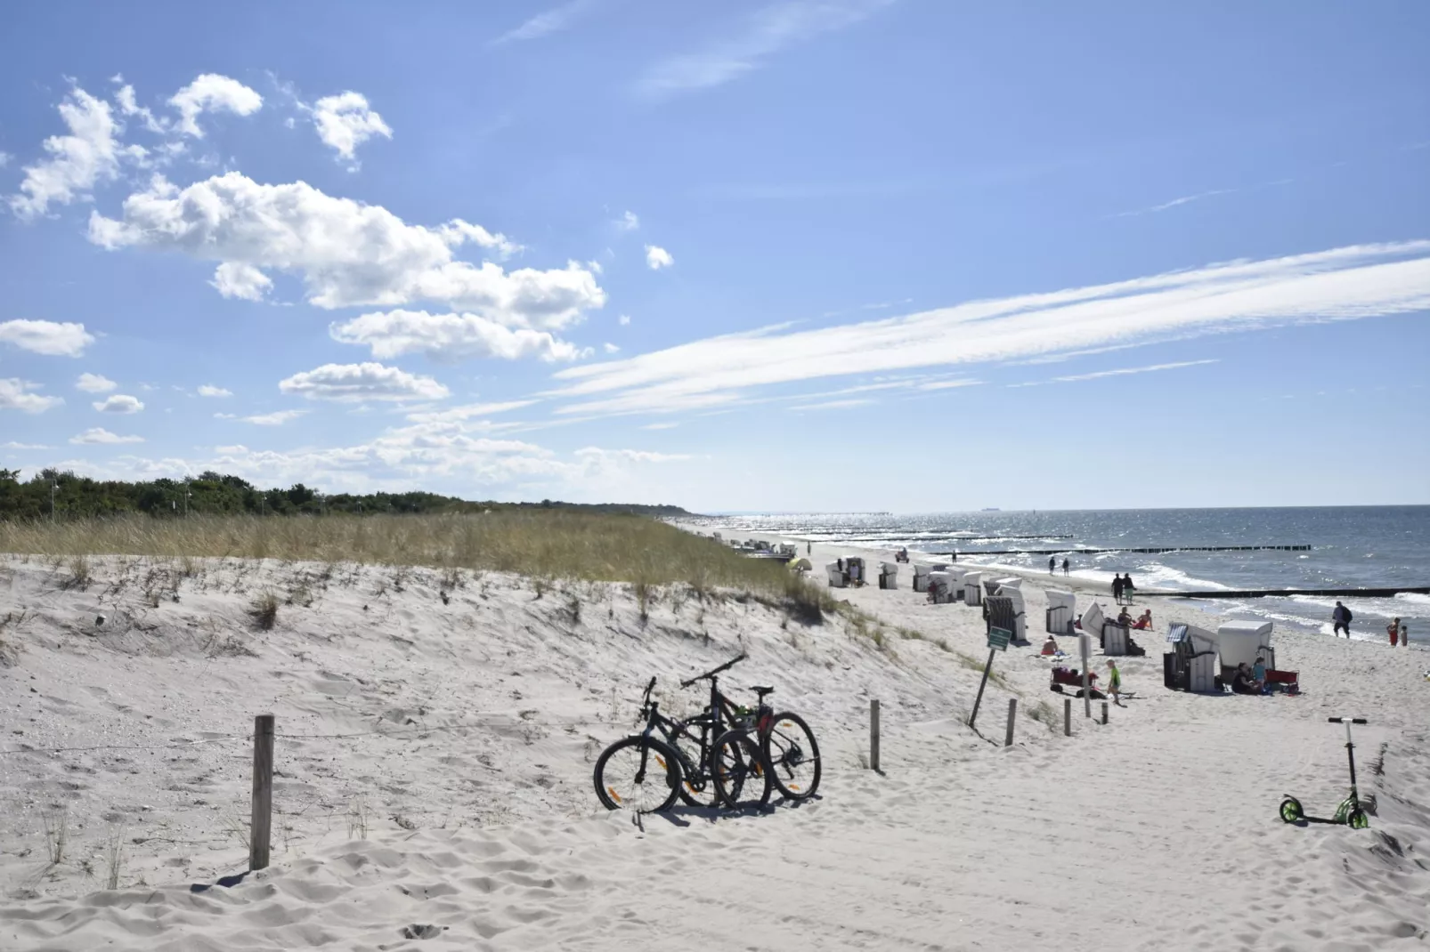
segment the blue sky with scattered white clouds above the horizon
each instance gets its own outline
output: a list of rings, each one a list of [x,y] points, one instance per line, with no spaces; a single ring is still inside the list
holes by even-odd
[[[0,466],[1430,502],[1420,3],[0,10]]]

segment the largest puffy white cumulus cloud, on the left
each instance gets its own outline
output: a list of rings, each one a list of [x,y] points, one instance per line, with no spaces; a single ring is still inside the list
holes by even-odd
[[[109,249],[182,250],[194,257],[293,272],[317,307],[396,307],[416,300],[470,310],[509,327],[558,330],[605,304],[595,276],[565,269],[503,270],[453,259],[453,249],[512,246],[452,220],[406,224],[380,206],[335,199],[302,182],[257,184],[230,172],[182,192],[162,177],[124,200],[122,219],[90,216],[89,237]]]

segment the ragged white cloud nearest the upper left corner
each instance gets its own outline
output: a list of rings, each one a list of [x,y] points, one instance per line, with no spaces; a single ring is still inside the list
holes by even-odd
[[[60,103],[60,119],[70,134],[44,140],[49,157],[26,166],[20,194],[10,196],[10,209],[21,219],[44,214],[51,203],[87,200],[97,183],[119,176],[120,160],[144,154],[139,146],[119,143],[120,127],[109,103],[79,87]]]

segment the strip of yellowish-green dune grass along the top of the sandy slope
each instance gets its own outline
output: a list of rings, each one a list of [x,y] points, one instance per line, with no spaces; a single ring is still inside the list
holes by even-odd
[[[561,509],[0,522],[0,552],[67,559],[134,555],[418,565],[535,579],[628,582],[641,590],[684,583],[701,598],[734,589],[774,599],[808,622],[834,606],[828,592],[776,560],[749,559],[642,516]]]

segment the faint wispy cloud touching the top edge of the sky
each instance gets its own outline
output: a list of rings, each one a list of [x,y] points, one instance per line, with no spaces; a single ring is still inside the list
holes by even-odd
[[[821,33],[842,30],[892,0],[786,0],[756,10],[745,29],[696,53],[661,60],[636,91],[649,99],[728,83],[764,66],[779,50]]]

